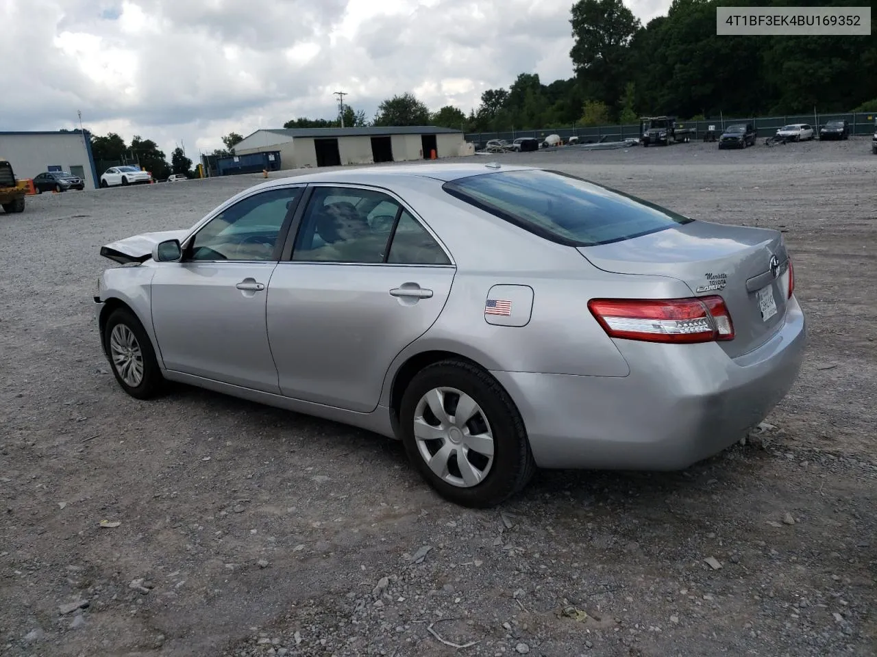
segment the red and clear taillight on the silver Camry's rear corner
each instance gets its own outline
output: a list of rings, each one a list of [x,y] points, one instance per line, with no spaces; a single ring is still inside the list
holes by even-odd
[[[610,337],[648,343],[733,340],[731,314],[720,296],[693,299],[592,299],[588,309]]]

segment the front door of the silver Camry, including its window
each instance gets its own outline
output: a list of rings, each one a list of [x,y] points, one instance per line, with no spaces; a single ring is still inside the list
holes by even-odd
[[[274,187],[221,208],[179,262],[156,263],[153,329],[168,370],[280,392],[265,301],[303,189]]]

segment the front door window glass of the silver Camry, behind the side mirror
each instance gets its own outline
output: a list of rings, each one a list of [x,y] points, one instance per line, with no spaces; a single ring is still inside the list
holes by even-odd
[[[302,187],[269,189],[241,199],[216,215],[189,246],[186,260],[273,260],[283,223]]]

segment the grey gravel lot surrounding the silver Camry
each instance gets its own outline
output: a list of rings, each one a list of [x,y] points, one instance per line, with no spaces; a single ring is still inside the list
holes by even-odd
[[[373,434],[116,385],[93,319],[112,265],[98,247],[187,227],[258,176],[29,198],[0,214],[0,653],[877,652],[866,140],[491,159],[787,231],[809,355],[774,427],[685,472],[543,472],[502,509],[467,511]]]

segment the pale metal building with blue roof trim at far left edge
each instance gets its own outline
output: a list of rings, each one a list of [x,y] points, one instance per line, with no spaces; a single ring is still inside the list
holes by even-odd
[[[19,180],[67,171],[85,180],[86,189],[98,185],[89,131],[0,132],[0,158],[11,162]]]

